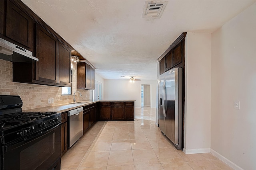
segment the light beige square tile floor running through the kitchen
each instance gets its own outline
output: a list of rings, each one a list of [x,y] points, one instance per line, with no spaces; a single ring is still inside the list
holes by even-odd
[[[98,121],[62,156],[62,170],[232,170],[211,153],[176,150],[155,125],[156,108],[134,121]]]

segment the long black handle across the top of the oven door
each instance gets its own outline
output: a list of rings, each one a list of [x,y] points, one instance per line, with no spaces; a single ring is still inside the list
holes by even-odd
[[[57,125],[54,125],[53,127],[51,127],[50,129],[42,129],[41,131],[38,131],[36,133],[33,133],[31,134],[30,136],[28,136],[27,138],[25,139],[22,139],[22,140],[19,140],[19,141],[16,141],[14,143],[10,143],[10,144],[7,144],[5,147],[4,147],[4,152],[8,152],[9,150],[12,150],[12,149],[15,149],[17,147],[21,147],[22,145],[26,145],[29,142],[32,142],[36,139],[39,139],[40,137],[42,137],[43,135],[46,135],[48,133],[51,133],[53,130],[55,130],[58,126],[60,126],[61,122],[58,123]]]

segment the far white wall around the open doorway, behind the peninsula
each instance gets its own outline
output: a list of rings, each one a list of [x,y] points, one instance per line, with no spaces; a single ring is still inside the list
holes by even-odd
[[[140,107],[141,84],[151,84],[152,107],[156,107],[156,80],[141,80],[130,83],[129,80],[104,80],[103,100],[136,100]]]

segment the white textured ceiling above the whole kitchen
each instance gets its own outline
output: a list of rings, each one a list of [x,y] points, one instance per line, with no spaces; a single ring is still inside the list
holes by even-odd
[[[255,2],[169,0],[160,19],[148,19],[145,0],[22,1],[102,78],[142,80],[156,80],[156,60],[182,32],[212,33]]]

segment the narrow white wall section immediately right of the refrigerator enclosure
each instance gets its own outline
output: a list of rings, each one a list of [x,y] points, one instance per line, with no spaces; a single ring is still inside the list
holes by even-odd
[[[210,152],[211,34],[186,35],[184,151]]]

